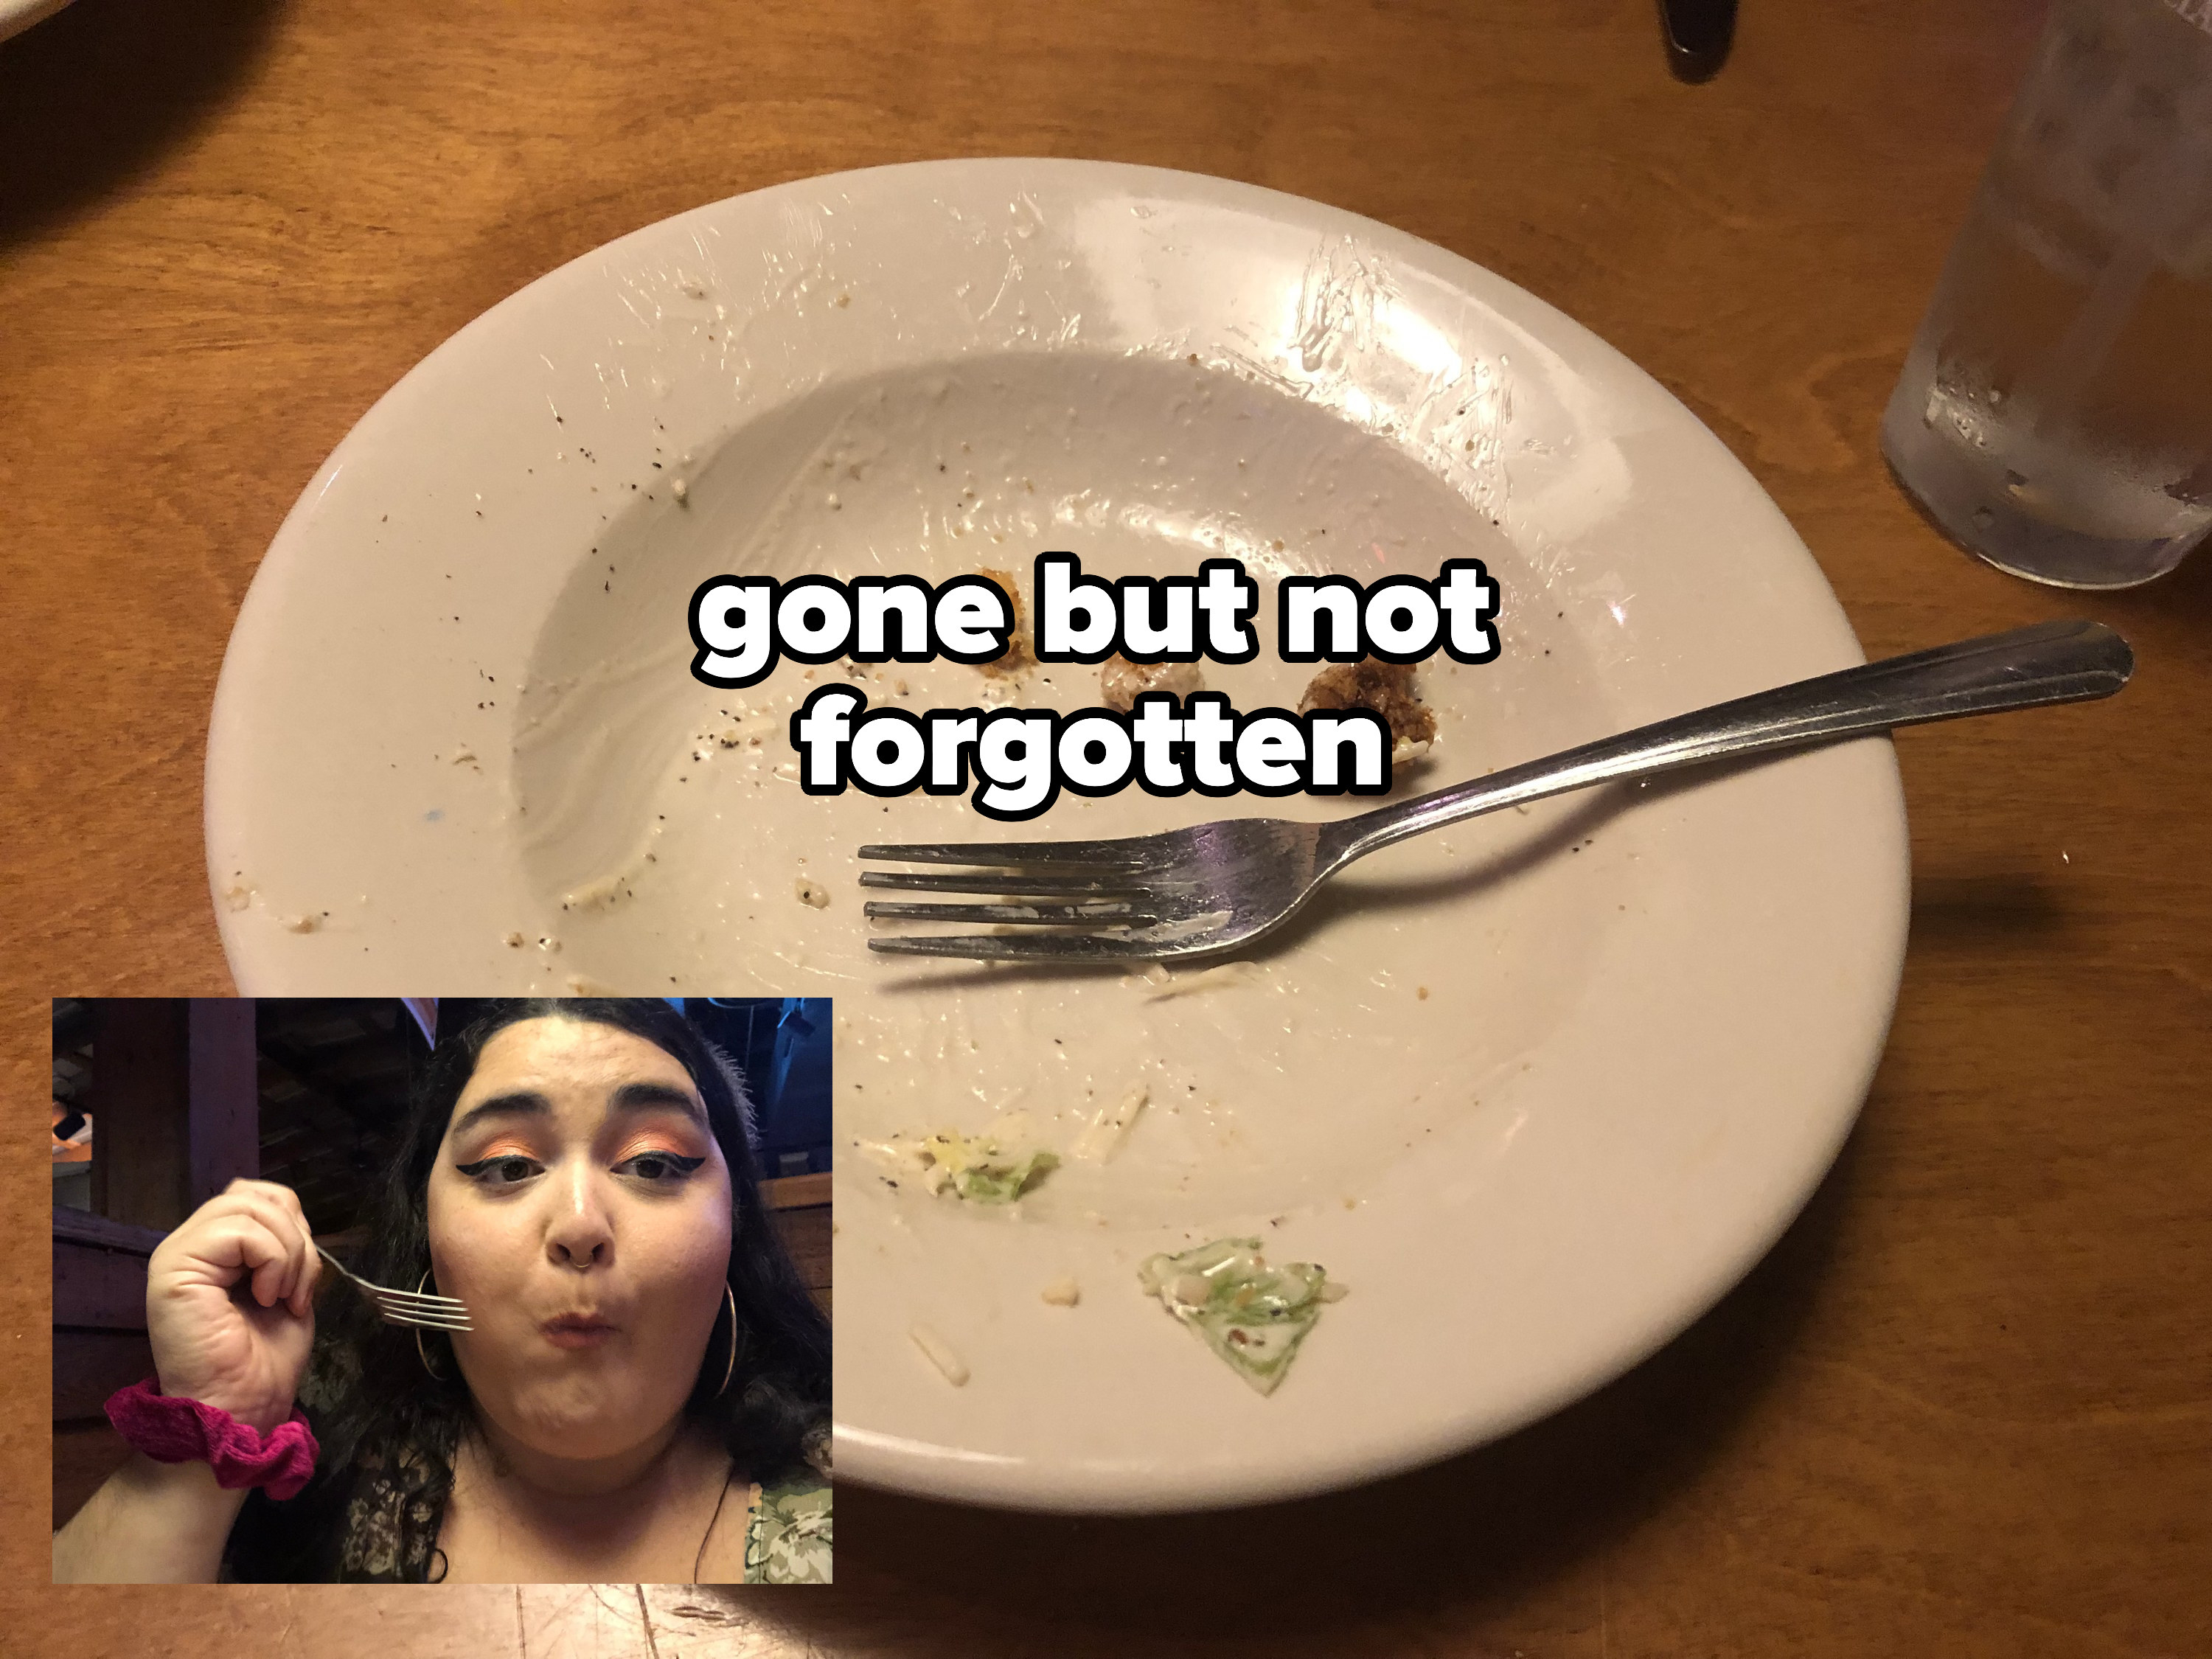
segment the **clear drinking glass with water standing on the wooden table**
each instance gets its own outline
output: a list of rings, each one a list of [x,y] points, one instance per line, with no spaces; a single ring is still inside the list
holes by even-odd
[[[2212,529],[2212,0],[2053,0],[1882,456],[2033,582],[2128,588]]]

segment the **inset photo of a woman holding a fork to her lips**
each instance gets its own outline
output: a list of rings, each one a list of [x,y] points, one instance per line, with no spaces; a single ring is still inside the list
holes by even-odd
[[[830,1584],[830,1002],[53,1002],[62,1584]]]

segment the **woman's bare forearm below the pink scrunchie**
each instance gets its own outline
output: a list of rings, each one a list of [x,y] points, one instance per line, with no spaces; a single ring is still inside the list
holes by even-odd
[[[246,1502],[204,1462],[133,1451],[75,1520],[53,1535],[55,1584],[215,1584]]]

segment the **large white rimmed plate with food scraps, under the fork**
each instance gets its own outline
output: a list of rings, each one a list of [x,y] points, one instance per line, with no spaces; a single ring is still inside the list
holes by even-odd
[[[686,602],[721,571],[1026,573],[1046,549],[1367,577],[1478,553],[1504,655],[1425,670],[1429,783],[1858,661],[1730,453],[1464,259],[1141,168],[810,179],[493,307],[307,487],[208,745],[239,989],[827,993],[847,1139],[1006,1110],[1064,1148],[1146,1082],[1124,1152],[1015,1219],[841,1152],[838,1469],[865,1482],[1044,1509],[1316,1491],[1504,1433],[1679,1332],[1805,1201],[1880,1053],[1907,909],[1887,741],[1407,843],[1221,991],[874,958],[854,847],[993,825],[803,796],[776,765],[807,681],[699,686]],[[894,679],[978,690],[949,664],[872,690]],[[1029,695],[1095,701],[1053,679]],[[1239,708],[1303,679],[1272,646],[1210,670]],[[1219,810],[1130,790],[1037,832]],[[1274,1398],[1135,1283],[1150,1250],[1245,1230],[1352,1290]],[[1073,1310],[1040,1298],[1062,1274]]]

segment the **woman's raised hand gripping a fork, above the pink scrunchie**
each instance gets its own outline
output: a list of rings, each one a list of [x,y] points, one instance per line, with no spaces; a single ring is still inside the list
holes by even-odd
[[[232,1181],[146,1267],[146,1329],[161,1394],[204,1400],[268,1433],[292,1416],[314,1347],[314,1252],[299,1197]]]

